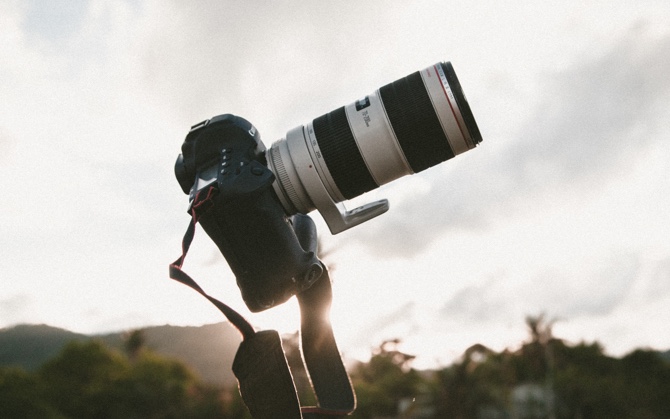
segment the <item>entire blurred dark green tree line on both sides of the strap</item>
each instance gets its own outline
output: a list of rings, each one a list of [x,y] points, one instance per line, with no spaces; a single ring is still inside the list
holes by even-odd
[[[670,361],[635,350],[623,358],[597,342],[568,344],[543,316],[501,352],[476,344],[438,371],[412,368],[399,340],[350,368],[353,418],[668,418]],[[285,349],[303,404],[315,402],[297,335]],[[235,386],[205,384],[185,364],[131,332],[120,349],[73,340],[35,371],[0,368],[2,418],[250,418]]]

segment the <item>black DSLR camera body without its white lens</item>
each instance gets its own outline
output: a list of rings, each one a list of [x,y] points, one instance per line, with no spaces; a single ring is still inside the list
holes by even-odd
[[[321,262],[302,248],[294,217],[277,200],[265,146],[250,122],[226,114],[193,126],[175,174],[189,194],[189,211],[209,195],[211,208],[198,221],[226,258],[249,310],[281,304],[321,276]]]

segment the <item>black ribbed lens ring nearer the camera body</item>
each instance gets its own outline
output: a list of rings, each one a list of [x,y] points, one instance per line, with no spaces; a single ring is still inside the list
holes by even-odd
[[[344,106],[316,118],[314,134],[337,188],[346,199],[377,187],[349,127]]]

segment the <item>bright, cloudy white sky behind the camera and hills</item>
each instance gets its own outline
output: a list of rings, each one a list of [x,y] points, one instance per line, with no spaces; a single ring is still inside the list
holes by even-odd
[[[222,321],[168,278],[189,217],[173,165],[222,113],[270,146],[451,61],[484,141],[356,202],[331,235],[341,350],[385,339],[446,365],[472,344],[557,337],[670,349],[670,3],[0,0],[0,327],[82,333]],[[254,325],[203,230],[184,269]]]

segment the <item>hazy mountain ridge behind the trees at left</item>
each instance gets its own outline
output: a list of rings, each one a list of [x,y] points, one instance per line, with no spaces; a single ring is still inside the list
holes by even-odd
[[[141,330],[149,349],[184,362],[205,382],[217,385],[236,383],[231,366],[242,339],[230,323],[200,327],[165,325]],[[112,348],[123,350],[127,333],[83,335],[47,325],[18,325],[0,329],[0,366],[34,370],[73,340],[98,339]]]

